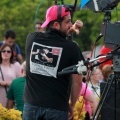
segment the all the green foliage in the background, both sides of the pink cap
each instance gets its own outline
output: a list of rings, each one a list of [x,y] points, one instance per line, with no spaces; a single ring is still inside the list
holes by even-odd
[[[54,5],[54,0],[1,0],[0,1],[0,40],[3,40],[7,29],[13,29],[17,33],[16,43],[20,45],[23,56],[25,55],[25,41],[29,33],[35,31],[35,21],[44,21],[48,7]],[[41,3],[41,4],[40,4]],[[61,4],[61,0],[58,0]],[[64,4],[74,4],[74,0],[64,0]],[[77,6],[79,6],[78,1]],[[36,11],[38,10],[38,11]],[[37,14],[38,13],[38,14]],[[73,34],[73,40],[77,41],[82,50],[91,50],[100,33],[103,13],[94,13],[92,10],[78,10],[73,14],[73,22],[80,19],[84,23],[80,35]],[[118,14],[118,15],[117,15]],[[118,13],[112,12],[112,20],[116,21]],[[98,44],[104,44],[103,39]]]

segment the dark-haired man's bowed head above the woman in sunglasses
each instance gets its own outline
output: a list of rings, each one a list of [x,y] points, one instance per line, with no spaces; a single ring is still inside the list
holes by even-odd
[[[13,30],[7,30],[4,35],[4,41],[6,44],[13,45],[15,43],[16,33]]]

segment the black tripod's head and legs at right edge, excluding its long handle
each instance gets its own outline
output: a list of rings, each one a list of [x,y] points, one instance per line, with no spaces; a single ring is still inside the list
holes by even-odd
[[[114,74],[111,74],[111,76],[108,78],[107,83],[102,91],[101,97],[100,97],[100,101],[99,104],[97,106],[97,109],[95,111],[95,114],[93,115],[93,119],[92,120],[97,120],[99,114],[101,113],[101,118],[104,118],[104,114],[103,112],[101,112],[104,109],[104,105],[106,103],[106,98],[108,99],[107,96],[109,96],[110,94],[110,90],[112,89],[111,86],[113,86],[114,84],[114,110],[113,110],[113,114],[111,114],[110,116],[110,120],[119,120],[118,114],[120,109],[118,110],[117,108],[117,104],[118,104],[118,89],[117,87],[120,86],[120,52],[119,52],[120,47],[116,48],[114,51],[111,51],[110,53],[108,53],[108,55],[110,56],[110,59],[112,59],[113,61],[113,72]],[[119,87],[119,91],[120,91],[120,87]],[[119,93],[120,94],[120,93]],[[112,98],[110,98],[112,99]],[[109,102],[108,102],[109,103]],[[113,106],[113,105],[112,105]],[[120,106],[120,105],[118,105]],[[107,114],[107,113],[106,113]],[[105,119],[103,119],[105,120]]]

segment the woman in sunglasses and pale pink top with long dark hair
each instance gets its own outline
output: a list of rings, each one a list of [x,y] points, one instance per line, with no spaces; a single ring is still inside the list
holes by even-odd
[[[17,77],[21,77],[21,66],[14,62],[11,46],[3,44],[0,48],[0,104],[3,107],[6,107],[8,87]]]

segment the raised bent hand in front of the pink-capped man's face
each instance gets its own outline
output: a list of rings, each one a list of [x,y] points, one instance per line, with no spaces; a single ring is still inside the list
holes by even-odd
[[[73,33],[76,32],[76,34],[78,35],[80,33],[80,29],[83,27],[83,22],[80,20],[77,20],[73,26],[70,28],[70,30],[68,31],[68,33]]]

